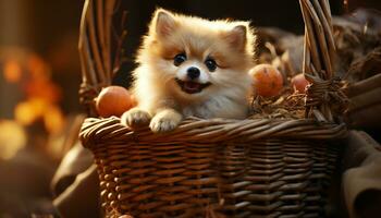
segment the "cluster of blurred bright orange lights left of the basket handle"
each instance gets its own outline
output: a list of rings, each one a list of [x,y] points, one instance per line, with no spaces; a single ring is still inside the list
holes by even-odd
[[[3,64],[4,78],[19,85],[24,94],[14,107],[15,121],[24,126],[42,122],[46,131],[52,134],[61,131],[65,123],[59,107],[61,87],[51,80],[49,64],[34,52],[15,49],[8,55]]]

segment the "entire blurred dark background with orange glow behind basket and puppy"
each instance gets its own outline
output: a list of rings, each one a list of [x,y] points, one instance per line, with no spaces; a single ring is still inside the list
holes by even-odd
[[[333,14],[381,2],[331,0]],[[0,0],[0,218],[54,214],[51,179],[76,140],[81,64],[78,28],[84,0]],[[156,7],[209,19],[251,20],[303,34],[298,1],[122,0],[127,10],[123,68],[128,86],[134,52]],[[74,135],[74,136],[73,136]]]

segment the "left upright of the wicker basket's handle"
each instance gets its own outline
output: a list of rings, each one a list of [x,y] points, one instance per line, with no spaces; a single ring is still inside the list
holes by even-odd
[[[112,51],[118,51],[126,34],[122,29],[122,34],[116,36],[116,43],[111,35],[116,7],[116,0],[86,0],[84,3],[78,40],[82,68],[79,102],[85,106],[89,117],[97,117],[94,99],[102,87],[112,84],[120,68],[121,53]],[[125,15],[122,17],[122,26],[124,19]]]

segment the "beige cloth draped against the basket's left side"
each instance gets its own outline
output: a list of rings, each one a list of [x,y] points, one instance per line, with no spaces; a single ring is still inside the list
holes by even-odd
[[[51,187],[62,218],[100,217],[98,173],[91,152],[79,142],[62,159]]]

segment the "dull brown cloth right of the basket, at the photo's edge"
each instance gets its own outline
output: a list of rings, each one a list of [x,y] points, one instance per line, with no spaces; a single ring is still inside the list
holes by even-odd
[[[343,194],[351,218],[381,217],[381,146],[351,131],[344,155]]]

